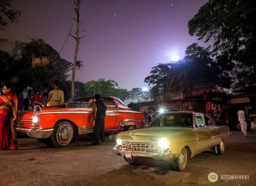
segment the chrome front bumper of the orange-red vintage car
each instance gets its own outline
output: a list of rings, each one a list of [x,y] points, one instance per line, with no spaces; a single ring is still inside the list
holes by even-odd
[[[52,135],[53,129],[24,129],[16,128],[17,132],[27,134],[36,139],[48,138]]]

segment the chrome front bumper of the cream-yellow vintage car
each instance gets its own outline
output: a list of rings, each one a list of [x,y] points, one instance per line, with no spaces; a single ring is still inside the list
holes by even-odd
[[[120,148],[120,145],[116,145],[113,147],[113,153],[115,155],[122,155],[125,156],[125,150]],[[149,152],[143,152],[143,151],[132,151],[132,157],[134,159],[136,158],[153,158],[155,161],[166,161],[166,162],[173,162],[175,159],[175,156],[171,153],[171,151],[168,149],[166,151],[160,151],[157,153],[149,153]]]

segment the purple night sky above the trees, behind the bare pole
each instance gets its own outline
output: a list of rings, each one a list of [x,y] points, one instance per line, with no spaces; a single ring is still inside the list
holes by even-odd
[[[71,28],[73,0],[14,0],[23,14],[11,23],[4,36],[28,42],[44,39],[59,51]],[[99,78],[117,81],[121,88],[148,86],[144,78],[151,68],[182,58],[188,45],[197,42],[188,35],[187,23],[206,0],[82,0],[81,39],[76,71],[82,82]],[[75,35],[76,25],[73,27]],[[69,37],[60,53],[73,62],[75,39]],[[203,47],[207,46],[199,42]],[[5,48],[7,49],[7,48]]]

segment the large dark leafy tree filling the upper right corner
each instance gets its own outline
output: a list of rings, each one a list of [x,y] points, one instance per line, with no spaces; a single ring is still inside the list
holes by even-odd
[[[188,30],[199,40],[214,41],[212,54],[222,75],[235,78],[235,86],[256,85],[255,1],[209,0],[188,22]],[[237,81],[237,76],[243,78]]]

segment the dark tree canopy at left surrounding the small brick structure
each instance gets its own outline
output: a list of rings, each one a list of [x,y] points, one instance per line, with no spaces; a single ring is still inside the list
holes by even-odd
[[[32,57],[44,56],[49,58],[49,64],[32,68]],[[73,68],[72,63],[61,58],[59,53],[42,39],[32,38],[29,43],[15,41],[11,53],[0,50],[0,65],[4,67],[0,82],[10,82],[14,76],[19,78],[19,83],[16,84],[17,92],[27,86],[42,91],[50,90],[55,79],[60,81],[60,88],[64,92],[71,90],[67,78],[68,72]],[[81,67],[82,61],[77,61],[77,68]]]

